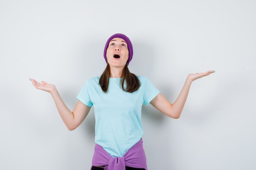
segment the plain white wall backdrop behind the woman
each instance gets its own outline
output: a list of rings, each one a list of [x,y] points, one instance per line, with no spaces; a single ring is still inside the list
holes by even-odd
[[[0,169],[89,170],[94,112],[65,127],[49,93],[73,110],[101,75],[114,33],[132,41],[132,73],[174,102],[193,82],[180,119],[143,106],[148,170],[256,169],[255,0],[0,0]]]

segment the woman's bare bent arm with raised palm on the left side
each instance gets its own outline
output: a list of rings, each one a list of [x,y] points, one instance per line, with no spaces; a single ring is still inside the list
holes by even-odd
[[[61,118],[67,126],[68,130],[74,130],[77,128],[88,115],[91,107],[86,106],[80,101],[76,104],[73,112],[67,108],[53,84],[48,84],[46,82],[38,83],[34,79],[30,80],[37,89],[49,92],[52,95],[58,109],[58,113],[61,115]]]

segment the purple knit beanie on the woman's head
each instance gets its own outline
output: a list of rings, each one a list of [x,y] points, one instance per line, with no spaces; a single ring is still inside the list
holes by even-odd
[[[108,41],[106,42],[106,45],[105,45],[105,48],[104,48],[104,58],[107,61],[107,56],[106,56],[106,53],[107,53],[107,49],[108,49],[108,44],[109,42],[113,39],[113,38],[122,38],[126,41],[127,43],[127,46],[128,46],[128,51],[129,51],[129,58],[128,58],[128,61],[127,61],[127,65],[129,64],[129,62],[132,60],[132,55],[133,55],[133,49],[132,49],[132,42],[130,41],[130,39],[124,35],[124,34],[114,34],[112,35]]]

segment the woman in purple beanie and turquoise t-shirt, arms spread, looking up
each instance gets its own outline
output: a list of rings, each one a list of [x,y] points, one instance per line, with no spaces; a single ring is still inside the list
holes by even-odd
[[[215,71],[189,74],[173,104],[144,76],[130,73],[128,64],[133,49],[123,34],[112,35],[106,42],[104,58],[107,66],[99,77],[88,79],[77,99],[73,112],[67,108],[53,84],[33,85],[49,92],[69,130],[77,128],[94,106],[95,149],[92,170],[147,170],[142,145],[141,106],[152,104],[162,113],[179,118],[189,94],[191,83]]]

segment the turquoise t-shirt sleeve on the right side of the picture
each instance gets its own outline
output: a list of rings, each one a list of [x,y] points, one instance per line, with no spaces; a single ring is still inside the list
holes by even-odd
[[[144,86],[144,104],[148,105],[160,92],[157,88],[145,77]]]

